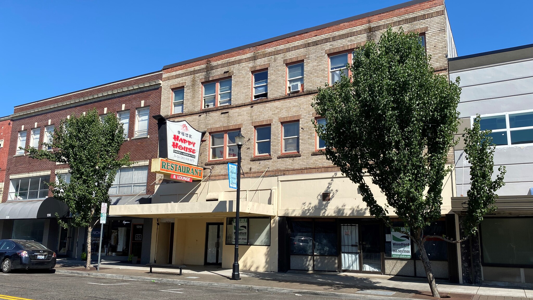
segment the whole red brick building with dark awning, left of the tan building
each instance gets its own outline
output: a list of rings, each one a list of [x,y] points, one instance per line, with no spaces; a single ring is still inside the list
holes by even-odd
[[[11,127],[3,133],[6,136],[5,151],[0,152],[7,158],[5,175],[0,165],[0,174],[2,179],[5,178],[3,203],[0,204],[0,238],[31,238],[60,255],[71,257],[79,257],[85,249],[83,228],[67,230],[58,226],[55,212],[64,217],[68,217],[68,212],[64,211],[64,204],[52,198],[45,184],[57,177],[70,180],[68,165],[31,159],[19,147],[44,147],[42,143],[50,141],[60,120],[94,108],[101,116],[117,114],[125,128],[120,155],[129,152],[131,161],[135,162],[131,168],[117,172],[109,192],[111,204],[150,201],[156,178],[155,173],[148,170],[150,159],[157,157],[158,145],[157,121],[152,116],[159,114],[160,85],[161,72],[154,72],[15,106],[10,116]],[[144,239],[133,240],[132,236],[149,237],[150,226],[151,219],[147,227],[143,219],[109,218],[104,227],[103,244],[106,248],[103,255],[126,259],[130,254],[140,259],[143,251],[148,251],[146,255],[149,255],[149,242],[146,243],[148,250],[142,249]],[[98,236],[99,233],[100,228],[98,234],[93,232]],[[98,247],[98,243],[93,246]],[[98,252],[98,249],[94,250]]]

